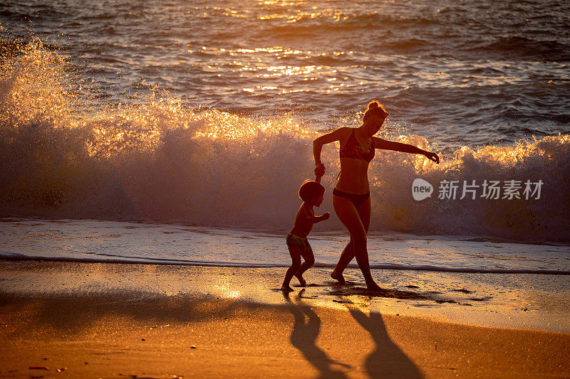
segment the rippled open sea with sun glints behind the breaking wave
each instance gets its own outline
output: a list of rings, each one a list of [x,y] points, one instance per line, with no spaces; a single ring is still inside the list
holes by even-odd
[[[2,55],[37,38],[89,108],[167,91],[188,110],[323,130],[376,98],[396,133],[450,152],[570,122],[567,1],[8,0],[0,17]]]

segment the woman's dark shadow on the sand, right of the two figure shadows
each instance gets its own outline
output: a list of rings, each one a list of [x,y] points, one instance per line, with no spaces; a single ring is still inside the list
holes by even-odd
[[[388,336],[381,314],[371,312],[367,316],[352,301],[343,302],[348,303],[348,311],[370,333],[376,345],[364,363],[371,378],[423,378],[410,358]]]

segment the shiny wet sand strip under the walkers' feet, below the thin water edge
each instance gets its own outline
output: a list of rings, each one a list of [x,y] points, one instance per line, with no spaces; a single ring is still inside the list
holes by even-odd
[[[259,304],[284,304],[284,267],[152,265],[114,262],[0,260],[0,293],[17,296],[141,292],[206,294]],[[348,268],[349,285],[329,267],[305,274],[311,305],[343,308],[346,299],[381,314],[419,316],[454,324],[570,333],[570,288],[564,275],[373,270],[385,290],[368,292],[361,272]],[[292,287],[301,289],[294,279]]]

